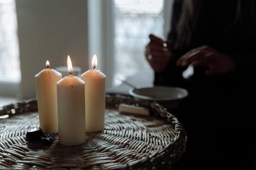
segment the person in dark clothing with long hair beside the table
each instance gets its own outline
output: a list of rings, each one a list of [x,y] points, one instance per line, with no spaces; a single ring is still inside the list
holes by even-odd
[[[176,169],[256,169],[254,0],[175,0],[172,16],[145,56],[155,85],[189,93],[173,111],[188,137]]]

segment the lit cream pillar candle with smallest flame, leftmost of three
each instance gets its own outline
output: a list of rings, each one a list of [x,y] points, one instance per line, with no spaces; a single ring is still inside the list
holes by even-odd
[[[56,82],[62,76],[60,72],[50,69],[47,60],[46,69],[35,75],[39,127],[44,133],[58,132],[57,88]]]

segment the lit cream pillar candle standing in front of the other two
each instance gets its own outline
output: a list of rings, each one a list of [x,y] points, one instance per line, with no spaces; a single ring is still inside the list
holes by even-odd
[[[84,81],[72,76],[72,63],[68,56],[69,76],[57,82],[59,143],[77,145],[86,140]]]

